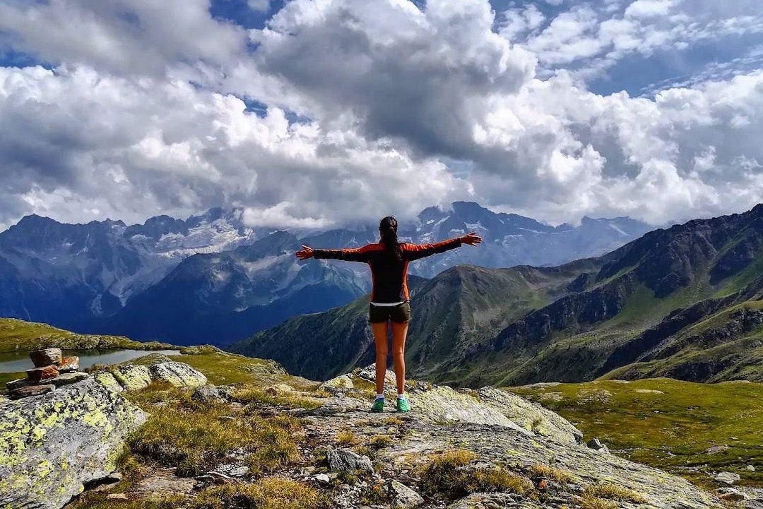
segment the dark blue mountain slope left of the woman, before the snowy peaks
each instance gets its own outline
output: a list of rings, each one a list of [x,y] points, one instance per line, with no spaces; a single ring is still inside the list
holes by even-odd
[[[367,283],[349,269],[298,265],[298,244],[276,232],[235,250],[191,256],[97,328],[140,340],[224,344],[365,293]]]

